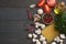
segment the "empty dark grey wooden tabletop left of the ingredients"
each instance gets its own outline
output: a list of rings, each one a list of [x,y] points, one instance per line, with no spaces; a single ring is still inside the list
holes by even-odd
[[[32,44],[25,32],[30,23],[26,6],[36,2],[37,0],[0,0],[0,44]]]

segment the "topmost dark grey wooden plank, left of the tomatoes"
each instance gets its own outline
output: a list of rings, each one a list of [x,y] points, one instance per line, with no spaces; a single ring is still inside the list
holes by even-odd
[[[0,0],[0,8],[25,8],[37,0]]]

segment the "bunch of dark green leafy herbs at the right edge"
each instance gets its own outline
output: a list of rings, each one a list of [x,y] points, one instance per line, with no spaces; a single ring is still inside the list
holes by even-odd
[[[55,29],[66,34],[66,12],[63,11],[55,15]]]

